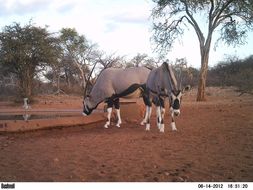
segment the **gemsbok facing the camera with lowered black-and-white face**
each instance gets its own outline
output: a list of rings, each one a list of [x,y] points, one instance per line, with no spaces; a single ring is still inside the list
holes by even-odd
[[[180,85],[181,86],[181,85]],[[171,127],[172,130],[177,130],[174,116],[180,114],[180,104],[182,95],[185,91],[190,90],[187,85],[183,89],[179,89],[176,77],[171,66],[164,62],[160,67],[153,69],[146,82],[147,101],[153,100],[156,105],[157,127],[160,132],[164,132],[164,115],[165,115],[165,98],[169,98],[169,106],[171,111]],[[150,116],[152,107],[147,106],[146,115],[142,124],[146,124],[146,130],[150,130]]]

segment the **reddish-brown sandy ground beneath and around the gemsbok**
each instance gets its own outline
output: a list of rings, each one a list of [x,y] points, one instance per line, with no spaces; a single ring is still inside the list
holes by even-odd
[[[104,122],[0,135],[0,181],[253,181],[253,97],[208,88],[208,101],[184,97],[177,132],[139,125],[144,106],[122,110],[121,128]],[[79,97],[38,97],[33,107],[81,108]],[[1,102],[0,108],[10,107]],[[13,107],[13,106],[12,106]],[[155,110],[153,111],[155,113]]]

